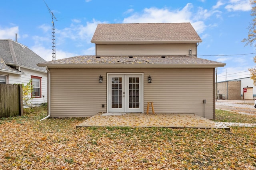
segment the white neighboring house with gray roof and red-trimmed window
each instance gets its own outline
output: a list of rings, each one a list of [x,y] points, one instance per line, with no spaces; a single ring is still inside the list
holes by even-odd
[[[44,62],[25,45],[11,39],[0,39],[0,83],[27,84],[32,79],[32,106],[47,102],[47,71],[36,65]]]

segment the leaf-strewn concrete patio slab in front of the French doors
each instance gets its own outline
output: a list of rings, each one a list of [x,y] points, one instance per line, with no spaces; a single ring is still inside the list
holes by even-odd
[[[170,128],[223,128],[229,127],[195,114],[170,113],[126,113],[111,115],[99,113],[86,119],[76,127],[170,127]]]

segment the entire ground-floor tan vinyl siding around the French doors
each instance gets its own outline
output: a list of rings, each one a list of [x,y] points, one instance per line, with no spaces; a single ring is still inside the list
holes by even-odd
[[[51,117],[85,117],[106,112],[107,73],[144,73],[144,112],[154,102],[156,113],[214,113],[214,69],[90,69],[52,68]],[[103,82],[99,83],[99,76]],[[148,76],[152,83],[148,83]],[[203,100],[206,100],[204,108]],[[102,108],[102,104],[105,105]],[[150,110],[151,111],[151,110]]]

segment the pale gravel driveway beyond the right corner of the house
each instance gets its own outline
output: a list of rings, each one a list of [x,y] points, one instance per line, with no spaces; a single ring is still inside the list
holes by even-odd
[[[216,109],[236,111],[246,115],[256,115],[254,100],[217,100]]]

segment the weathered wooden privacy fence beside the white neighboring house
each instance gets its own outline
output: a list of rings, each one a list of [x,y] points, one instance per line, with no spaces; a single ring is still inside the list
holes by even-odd
[[[0,84],[0,117],[22,113],[22,84]]]

